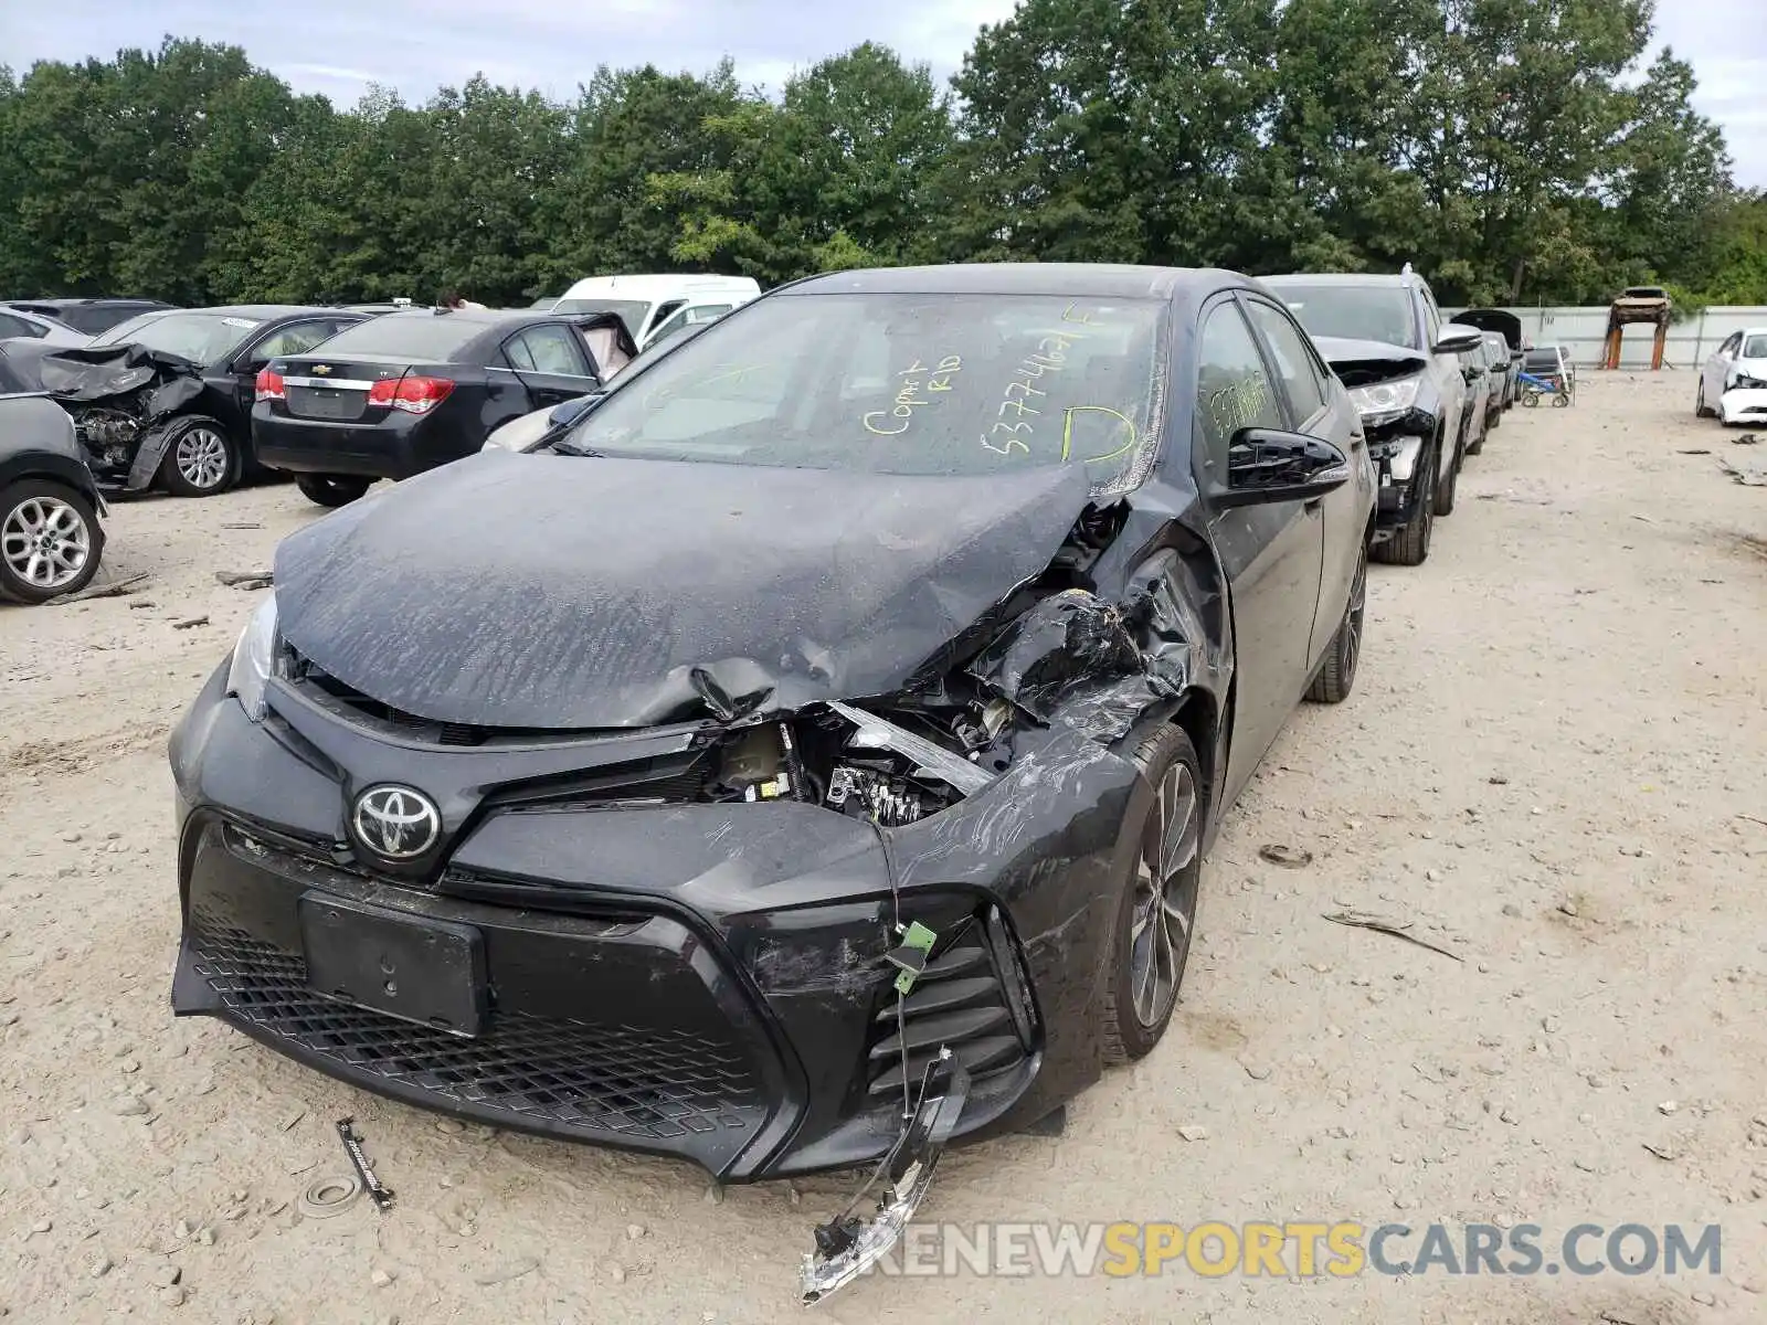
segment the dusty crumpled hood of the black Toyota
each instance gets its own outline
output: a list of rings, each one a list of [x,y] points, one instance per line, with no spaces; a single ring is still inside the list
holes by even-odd
[[[899,689],[1041,572],[1083,466],[892,477],[484,452],[276,553],[283,636],[440,723],[645,726]]]

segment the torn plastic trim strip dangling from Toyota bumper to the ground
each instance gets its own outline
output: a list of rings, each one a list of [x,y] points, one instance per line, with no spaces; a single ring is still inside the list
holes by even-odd
[[[944,1092],[933,1094],[935,1081],[947,1072]],[[804,1258],[800,1283],[806,1306],[845,1288],[896,1246],[933,1185],[933,1168],[956,1131],[968,1095],[968,1071],[952,1060],[951,1049],[940,1049],[921,1078],[921,1106],[876,1173],[841,1214],[816,1226],[816,1251]],[[878,1180],[884,1182],[884,1192],[873,1212],[861,1215],[859,1208]]]

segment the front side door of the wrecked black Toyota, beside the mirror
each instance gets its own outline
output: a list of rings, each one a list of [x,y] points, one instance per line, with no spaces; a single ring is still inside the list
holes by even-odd
[[[1281,390],[1232,293],[1203,306],[1196,327],[1194,465],[1205,505],[1226,488],[1228,445],[1240,428],[1288,428]],[[1233,613],[1230,804],[1281,731],[1309,671],[1325,521],[1306,502],[1212,507],[1209,526]]]

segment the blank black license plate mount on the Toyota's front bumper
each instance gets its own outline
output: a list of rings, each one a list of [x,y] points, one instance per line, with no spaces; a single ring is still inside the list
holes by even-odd
[[[357,1007],[445,1030],[484,1030],[484,935],[470,924],[309,892],[297,903],[307,984]]]

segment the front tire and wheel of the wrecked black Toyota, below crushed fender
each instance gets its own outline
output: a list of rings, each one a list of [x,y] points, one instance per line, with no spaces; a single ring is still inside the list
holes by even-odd
[[[1117,913],[1104,991],[1104,1062],[1147,1056],[1172,1025],[1191,956],[1207,809],[1196,747],[1163,724],[1134,763],[1154,788],[1143,807],[1134,869]]]

